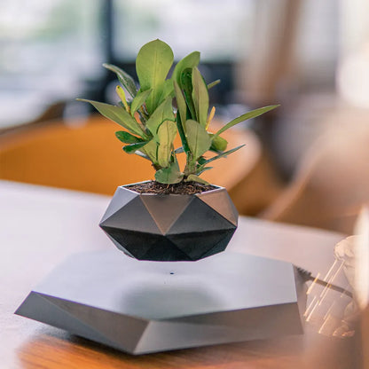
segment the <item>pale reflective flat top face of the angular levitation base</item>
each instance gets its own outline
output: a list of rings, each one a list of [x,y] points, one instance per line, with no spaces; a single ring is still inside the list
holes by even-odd
[[[116,250],[70,256],[35,293],[161,320],[296,302],[293,266],[224,252],[198,262],[146,262]]]

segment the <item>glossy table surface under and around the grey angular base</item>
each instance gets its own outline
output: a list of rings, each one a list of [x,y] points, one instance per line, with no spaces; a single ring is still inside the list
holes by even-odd
[[[68,255],[114,247],[98,228],[109,198],[0,181],[0,362],[4,368],[353,367],[353,339],[305,334],[132,357],[15,316],[32,287]],[[325,274],[339,233],[240,217],[226,252],[286,260]],[[338,284],[344,284],[339,281]]]

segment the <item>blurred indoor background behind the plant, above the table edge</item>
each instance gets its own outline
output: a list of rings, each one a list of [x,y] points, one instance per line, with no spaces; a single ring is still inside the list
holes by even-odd
[[[75,98],[113,102],[102,63],[135,75],[139,48],[161,38],[177,60],[201,51],[207,82],[222,80],[211,90],[218,121],[281,104],[231,133],[247,147],[211,178],[239,212],[352,231],[369,200],[367,0],[1,5],[0,178],[111,194],[153,177],[130,167],[113,126]]]

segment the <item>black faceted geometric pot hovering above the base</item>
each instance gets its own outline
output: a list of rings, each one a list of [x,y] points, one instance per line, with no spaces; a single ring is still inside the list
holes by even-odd
[[[224,251],[237,222],[223,187],[159,195],[119,186],[99,225],[116,247],[136,259],[194,261]]]

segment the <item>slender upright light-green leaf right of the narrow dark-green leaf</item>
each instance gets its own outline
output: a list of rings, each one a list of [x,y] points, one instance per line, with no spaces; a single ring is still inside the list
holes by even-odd
[[[208,119],[208,88],[197,67],[192,69],[192,101],[197,121],[206,127]]]

